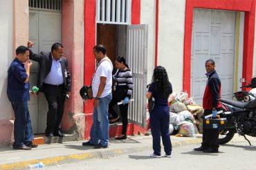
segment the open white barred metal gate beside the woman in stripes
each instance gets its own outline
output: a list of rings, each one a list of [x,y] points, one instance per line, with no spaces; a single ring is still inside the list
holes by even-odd
[[[134,81],[128,118],[132,123],[146,125],[147,100],[147,25],[127,25],[127,63]]]

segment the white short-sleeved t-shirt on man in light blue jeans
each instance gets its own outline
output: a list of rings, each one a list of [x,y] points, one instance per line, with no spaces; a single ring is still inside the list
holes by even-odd
[[[108,61],[107,61],[108,60]],[[92,81],[92,87],[93,87],[93,97],[95,98],[98,94],[99,86],[100,86],[100,77],[106,77],[106,85],[104,88],[104,91],[102,92],[102,95],[100,98],[104,98],[107,95],[111,94],[112,92],[112,72],[113,72],[113,65],[109,59],[104,59],[102,63],[98,66],[98,69],[96,70],[93,81]]]

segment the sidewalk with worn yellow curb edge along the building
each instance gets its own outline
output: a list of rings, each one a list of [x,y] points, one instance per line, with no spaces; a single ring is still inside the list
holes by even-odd
[[[201,137],[179,138],[171,136],[172,146],[179,147],[200,143]],[[256,138],[249,138],[255,141]],[[244,141],[243,137],[235,136],[232,142]],[[63,144],[39,145],[31,151],[15,151],[12,147],[0,148],[0,169],[26,169],[29,164],[43,162],[46,166],[62,162],[86,160],[89,158],[109,158],[125,153],[148,150],[152,152],[151,136],[132,136],[127,140],[111,140],[108,149],[83,147],[81,142],[65,142]]]

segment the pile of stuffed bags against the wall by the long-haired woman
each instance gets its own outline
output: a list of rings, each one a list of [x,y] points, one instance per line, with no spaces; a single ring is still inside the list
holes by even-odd
[[[170,98],[170,134],[194,137],[203,133],[203,107],[196,105],[188,94],[173,93]]]

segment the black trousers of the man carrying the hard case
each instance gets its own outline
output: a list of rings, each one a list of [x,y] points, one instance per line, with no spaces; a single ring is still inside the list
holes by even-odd
[[[209,114],[212,114],[212,110],[204,111],[204,116],[207,116]],[[202,147],[205,149],[219,149],[219,129],[205,129],[205,125],[203,123]]]

